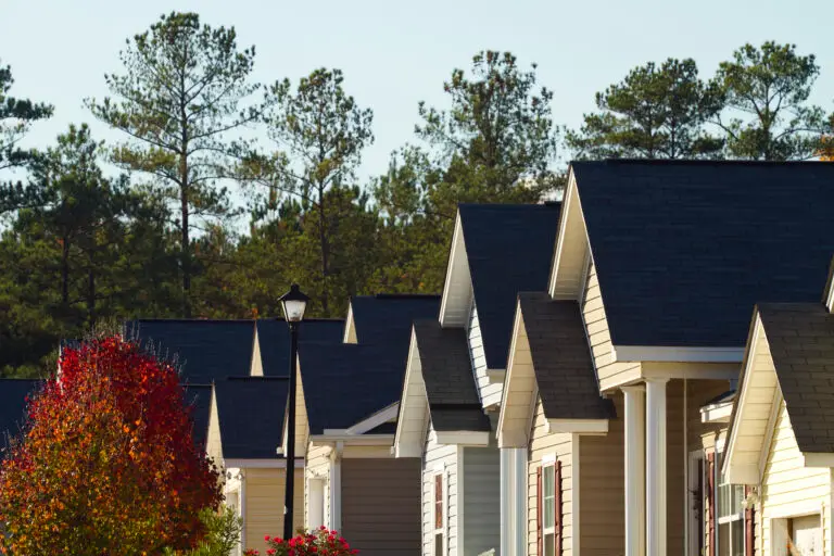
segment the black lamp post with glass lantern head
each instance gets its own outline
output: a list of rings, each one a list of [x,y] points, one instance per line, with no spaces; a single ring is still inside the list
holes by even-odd
[[[287,401],[287,483],[283,502],[283,538],[292,538],[292,497],[295,486],[295,384],[298,382],[299,325],[304,318],[304,309],[309,298],[304,295],[298,283],[281,295],[283,318],[290,326],[290,391]]]

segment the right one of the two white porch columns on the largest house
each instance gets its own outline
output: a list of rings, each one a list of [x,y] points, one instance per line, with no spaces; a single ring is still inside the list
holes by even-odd
[[[646,556],[666,556],[666,383],[646,380]]]

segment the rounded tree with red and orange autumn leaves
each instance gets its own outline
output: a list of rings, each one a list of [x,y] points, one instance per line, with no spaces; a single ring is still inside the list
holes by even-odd
[[[192,546],[220,501],[175,367],[121,337],[65,350],[0,468],[4,554],[122,556]]]

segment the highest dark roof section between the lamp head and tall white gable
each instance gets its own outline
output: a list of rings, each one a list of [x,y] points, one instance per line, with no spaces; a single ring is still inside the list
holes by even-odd
[[[395,342],[407,351],[412,323],[438,318],[440,295],[378,293],[351,298],[353,325],[358,343]],[[401,348],[402,349],[402,348]]]

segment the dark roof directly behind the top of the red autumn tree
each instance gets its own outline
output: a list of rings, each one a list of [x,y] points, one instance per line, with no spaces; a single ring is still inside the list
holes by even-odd
[[[128,338],[176,359],[182,380],[195,384],[249,375],[254,333],[254,320],[141,319],[125,324]]]

